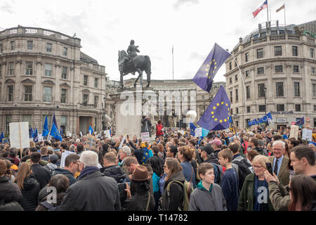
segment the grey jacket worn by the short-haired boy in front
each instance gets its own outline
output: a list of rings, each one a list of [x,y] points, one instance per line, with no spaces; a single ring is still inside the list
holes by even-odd
[[[222,188],[213,184],[211,193],[195,188],[190,195],[189,211],[227,211]]]

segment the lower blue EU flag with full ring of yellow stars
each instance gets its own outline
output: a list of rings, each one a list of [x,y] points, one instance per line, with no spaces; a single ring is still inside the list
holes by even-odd
[[[209,131],[230,127],[230,100],[222,85],[197,124]]]

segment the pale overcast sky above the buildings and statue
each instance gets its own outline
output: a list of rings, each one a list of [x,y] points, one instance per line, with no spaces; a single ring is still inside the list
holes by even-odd
[[[264,0],[1,0],[0,27],[41,27],[81,39],[81,51],[105,65],[110,79],[119,80],[118,51],[131,39],[141,55],[150,56],[152,79],[192,79],[217,42],[223,49],[237,45],[267,20]],[[315,20],[315,0],[268,0],[271,19],[284,24]],[[1,30],[1,29],[0,29]],[[225,81],[225,65],[216,81]],[[133,77],[127,75],[124,79]],[[144,75],[145,79],[145,75]]]

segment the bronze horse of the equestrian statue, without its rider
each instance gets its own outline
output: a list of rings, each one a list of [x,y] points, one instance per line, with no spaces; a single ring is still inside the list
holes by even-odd
[[[134,82],[134,86],[138,82],[138,79],[143,76],[143,71],[146,72],[147,75],[147,86],[150,85],[150,74],[151,71],[151,63],[149,56],[135,56],[131,58],[127,55],[126,51],[119,51],[119,72],[121,74],[121,88],[123,88],[123,76],[128,75],[129,73],[138,72],[138,77]]]

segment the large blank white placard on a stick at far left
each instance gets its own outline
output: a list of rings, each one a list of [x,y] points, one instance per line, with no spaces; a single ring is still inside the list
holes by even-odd
[[[11,148],[29,148],[29,122],[11,122],[9,127]]]

